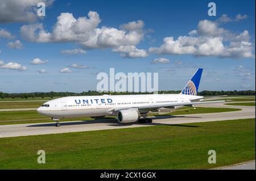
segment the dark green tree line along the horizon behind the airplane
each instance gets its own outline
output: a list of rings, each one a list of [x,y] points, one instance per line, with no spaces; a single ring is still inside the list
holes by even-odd
[[[179,94],[181,91],[158,91],[158,94]],[[153,94],[153,92],[98,92],[98,91],[83,91],[80,93],[77,92],[30,92],[30,93],[6,93],[0,92],[0,98],[45,98],[45,97],[64,97],[64,96],[80,96],[80,95],[132,95],[132,94]],[[218,95],[255,95],[255,90],[242,90],[242,91],[200,91],[197,92],[197,95],[201,96],[218,96]]]

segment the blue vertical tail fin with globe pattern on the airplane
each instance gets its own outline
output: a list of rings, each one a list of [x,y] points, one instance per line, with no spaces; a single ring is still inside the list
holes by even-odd
[[[197,90],[199,88],[199,83],[200,83],[202,73],[203,73],[203,69],[201,68],[197,69],[193,77],[188,81],[187,85],[180,92],[180,94],[197,95]]]

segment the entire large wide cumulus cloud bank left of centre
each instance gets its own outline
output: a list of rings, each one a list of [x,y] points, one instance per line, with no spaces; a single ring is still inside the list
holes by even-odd
[[[84,49],[137,45],[143,39],[142,20],[122,24],[122,30],[105,26],[97,28],[100,22],[100,15],[95,11],[89,11],[88,18],[78,19],[71,13],[61,13],[51,32],[44,30],[42,23],[35,23],[22,26],[20,33],[28,41],[77,42]]]

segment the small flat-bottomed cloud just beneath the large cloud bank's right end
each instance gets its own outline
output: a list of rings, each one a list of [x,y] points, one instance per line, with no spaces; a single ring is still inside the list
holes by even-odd
[[[144,49],[138,49],[135,45],[122,45],[112,49],[113,52],[120,53],[123,58],[144,58],[148,56],[148,53]]]

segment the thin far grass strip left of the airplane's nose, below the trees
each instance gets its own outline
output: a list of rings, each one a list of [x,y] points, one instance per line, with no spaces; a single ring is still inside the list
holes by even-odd
[[[40,107],[43,103],[44,102],[0,102],[0,109],[36,108]]]

